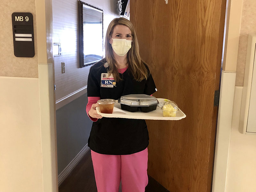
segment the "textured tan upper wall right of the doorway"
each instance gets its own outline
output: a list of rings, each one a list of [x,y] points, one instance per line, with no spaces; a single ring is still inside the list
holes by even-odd
[[[246,60],[248,34],[256,31],[256,1],[244,0],[238,47],[236,86],[244,85],[244,67]]]

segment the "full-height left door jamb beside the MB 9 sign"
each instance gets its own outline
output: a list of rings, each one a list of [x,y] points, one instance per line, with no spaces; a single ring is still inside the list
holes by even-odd
[[[43,191],[58,192],[56,104],[52,54],[52,0],[36,0],[36,38]]]

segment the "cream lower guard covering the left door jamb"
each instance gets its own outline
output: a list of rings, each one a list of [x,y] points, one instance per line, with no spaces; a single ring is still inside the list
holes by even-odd
[[[46,192],[57,188],[57,143],[53,92],[53,65],[38,63],[40,124],[42,142],[43,187]]]

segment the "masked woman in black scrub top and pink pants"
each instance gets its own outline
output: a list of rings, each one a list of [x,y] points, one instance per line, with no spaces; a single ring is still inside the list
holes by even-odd
[[[92,119],[88,139],[98,192],[144,192],[148,184],[148,130],[143,119],[106,118],[97,114],[97,100],[156,92],[149,69],[139,55],[132,23],[112,20],[105,41],[106,57],[94,64],[88,76],[86,112]],[[104,84],[102,74],[112,76]]]

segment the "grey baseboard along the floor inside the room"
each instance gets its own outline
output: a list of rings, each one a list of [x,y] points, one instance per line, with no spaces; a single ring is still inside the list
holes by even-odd
[[[75,158],[68,164],[68,166],[58,175],[58,186],[68,177],[70,172],[76,167],[82,157],[90,150],[88,143],[75,156]]]

